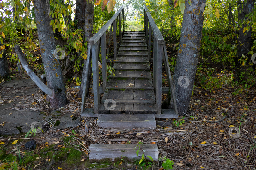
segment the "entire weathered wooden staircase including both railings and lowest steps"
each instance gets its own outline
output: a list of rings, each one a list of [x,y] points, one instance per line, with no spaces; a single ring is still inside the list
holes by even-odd
[[[101,128],[155,129],[155,118],[178,117],[165,41],[145,5],[144,31],[125,31],[124,22],[122,31],[121,13],[124,20],[124,7],[121,7],[101,30],[89,40],[87,59],[84,61],[85,71],[83,74],[85,75],[83,76],[88,77],[90,61],[92,60],[94,108],[84,108],[86,89],[88,88],[84,83],[84,87],[82,87],[81,117],[98,117],[98,127]],[[119,44],[117,43],[116,21],[119,21]],[[113,68],[115,71],[107,81],[109,46],[108,48],[106,46],[106,31],[109,27],[108,44],[110,44],[113,28],[112,54],[114,59],[111,60],[114,62]],[[118,47],[119,50],[117,50]],[[151,50],[153,50],[152,58]],[[98,68],[100,52],[102,63],[101,87],[99,86]],[[166,88],[162,87],[163,61],[169,83],[169,87]],[[153,68],[150,68],[150,64],[153,65]],[[168,93],[168,98],[171,99],[169,101],[173,102],[174,109],[162,109],[162,93]],[[102,99],[101,94],[103,94]],[[130,137],[128,138],[130,139]],[[111,139],[111,141],[115,141],[115,139]],[[116,141],[122,141],[122,139],[116,139]],[[129,140],[124,139],[123,141]],[[137,156],[136,150],[134,150],[136,146],[137,144],[91,144],[89,157],[90,159],[110,158],[113,160],[125,156],[130,159],[140,159],[142,151]],[[143,150],[153,160],[158,160],[157,144],[145,144]]]

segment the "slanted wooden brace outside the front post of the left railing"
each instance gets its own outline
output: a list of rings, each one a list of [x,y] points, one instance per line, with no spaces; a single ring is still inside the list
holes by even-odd
[[[87,78],[88,78],[88,74],[89,74],[90,64],[91,64],[91,44],[89,44],[89,46],[88,46],[87,59],[84,60],[84,65],[83,65],[84,69],[85,69],[85,80],[84,80],[84,82],[88,81]],[[83,87],[80,87],[80,88],[83,88],[81,113],[83,113],[84,106],[85,106],[87,88],[89,88],[87,86],[88,86],[88,84],[84,83]]]

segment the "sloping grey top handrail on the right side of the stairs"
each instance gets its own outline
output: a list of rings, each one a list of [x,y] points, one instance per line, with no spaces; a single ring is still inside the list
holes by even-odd
[[[160,30],[158,29],[157,25],[155,24],[154,19],[152,18],[149,9],[147,8],[146,5],[144,5],[144,10],[146,11],[146,16],[149,20],[149,24],[151,25],[151,29],[154,32],[154,35],[156,37],[156,41],[158,42],[158,44],[165,44],[164,38],[162,36],[162,33],[160,32]]]

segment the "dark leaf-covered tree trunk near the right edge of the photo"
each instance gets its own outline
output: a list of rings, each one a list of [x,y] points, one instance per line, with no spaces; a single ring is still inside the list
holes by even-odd
[[[253,11],[254,9],[254,0],[247,0],[247,3],[243,2],[242,4],[239,4],[237,7],[238,11],[241,11],[241,13],[238,13],[238,21],[243,22],[243,20],[251,21],[251,19],[248,18],[248,14]],[[240,1],[241,3],[241,1]],[[246,22],[247,23],[247,22]],[[247,54],[251,50],[251,33],[252,33],[252,25],[250,25],[250,29],[247,31],[244,28],[246,28],[247,24],[242,24],[239,28],[239,37],[238,37],[238,46],[237,46],[237,58],[236,58],[236,65],[240,66],[240,61],[238,61],[242,54],[245,56],[248,56]],[[238,25],[239,26],[239,25]],[[239,67],[240,68],[240,67]]]

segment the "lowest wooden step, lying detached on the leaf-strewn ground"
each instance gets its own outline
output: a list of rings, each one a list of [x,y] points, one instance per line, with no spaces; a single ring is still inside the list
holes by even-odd
[[[143,152],[139,151],[139,155],[137,156],[136,151],[139,149],[137,145],[138,144],[91,144],[89,147],[89,158],[97,160],[110,158],[112,161],[114,161],[115,158],[121,157],[141,159]],[[157,144],[140,144],[140,147],[144,150],[145,156],[149,155],[154,161],[158,161],[159,151]],[[147,157],[147,159],[149,158]]]

